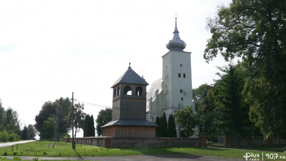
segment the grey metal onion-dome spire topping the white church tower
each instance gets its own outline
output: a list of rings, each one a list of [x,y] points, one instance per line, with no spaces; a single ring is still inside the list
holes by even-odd
[[[183,51],[186,48],[186,45],[187,44],[180,38],[179,31],[177,29],[177,17],[176,17],[175,30],[173,32],[173,39],[170,40],[168,44],[166,44],[166,47],[169,50]]]

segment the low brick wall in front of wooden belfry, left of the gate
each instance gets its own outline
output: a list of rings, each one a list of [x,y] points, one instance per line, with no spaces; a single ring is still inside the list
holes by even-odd
[[[201,139],[201,140],[200,140]],[[123,138],[123,137],[84,137],[74,138],[76,144],[102,147],[135,147],[135,146],[206,146],[205,134],[198,138]],[[64,138],[64,142],[72,143],[72,138]]]

